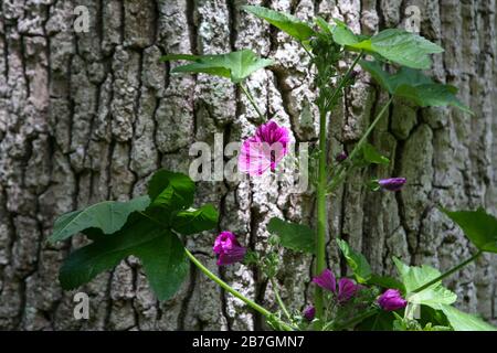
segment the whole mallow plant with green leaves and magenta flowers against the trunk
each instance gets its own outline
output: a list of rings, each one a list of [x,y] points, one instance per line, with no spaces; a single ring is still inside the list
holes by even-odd
[[[265,317],[275,330],[495,330],[482,319],[454,308],[456,295],[442,285],[444,278],[476,260],[483,253],[497,253],[497,220],[483,208],[463,212],[441,208],[477,248],[474,256],[444,274],[427,265],[408,266],[393,258],[398,278],[376,275],[366,257],[339,237],[336,244],[348,264],[351,278],[336,278],[326,263],[327,223],[332,212],[327,199],[350,173],[370,164],[390,162],[368,142],[368,138],[392,100],[401,97],[419,107],[453,106],[472,114],[456,98],[455,87],[435,83],[422,72],[431,66],[430,55],[442,53],[442,47],[398,29],[388,29],[372,36],[358,35],[338,20],[329,23],[317,18],[309,24],[263,7],[246,6],[243,9],[289,34],[309,55],[317,92],[314,103],[319,110],[319,141],[309,163],[310,180],[316,190],[316,229],[272,218],[267,225],[272,236],[264,256],[244,247],[228,229],[219,234],[212,247],[219,266],[242,261],[258,266],[272,284],[278,311],[269,311],[233,289],[184,247],[186,237],[215,228],[219,215],[212,205],[193,208],[193,181],[184,174],[166,170],[152,175],[144,196],[128,202],[94,204],[64,214],[55,222],[51,242],[65,240],[80,232],[91,240],[89,245],[66,258],[60,271],[62,287],[75,289],[134,255],[141,260],[159,300],[167,300],[177,292],[192,263],[225,291]],[[255,135],[242,143],[239,170],[252,178],[277,170],[287,154],[289,131],[266,119],[244,84],[252,73],[273,65],[273,60],[261,58],[251,50],[222,55],[172,54],[162,60],[189,62],[176,66],[172,73],[216,75],[237,85],[261,122]],[[339,62],[351,64],[341,69]],[[353,149],[339,153],[334,162],[329,162],[327,122],[345,90],[353,85],[357,65],[371,74],[389,94],[389,99]],[[402,175],[366,181],[373,192],[399,192],[406,182]],[[281,247],[314,256],[314,276],[309,280],[315,293],[302,312],[288,310],[279,296],[275,276]]]

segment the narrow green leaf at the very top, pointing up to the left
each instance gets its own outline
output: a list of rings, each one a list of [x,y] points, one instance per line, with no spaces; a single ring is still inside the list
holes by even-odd
[[[315,34],[314,30],[307,23],[292,14],[257,6],[243,6],[242,9],[260,19],[266,20],[275,28],[288,33],[300,42],[308,40]]]

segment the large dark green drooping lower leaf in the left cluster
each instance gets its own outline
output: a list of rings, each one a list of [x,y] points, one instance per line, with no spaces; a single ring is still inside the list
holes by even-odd
[[[130,255],[141,259],[160,300],[169,299],[188,272],[188,259],[178,237],[137,215],[112,236],[97,235],[94,243],[71,253],[59,276],[62,288],[75,289]]]

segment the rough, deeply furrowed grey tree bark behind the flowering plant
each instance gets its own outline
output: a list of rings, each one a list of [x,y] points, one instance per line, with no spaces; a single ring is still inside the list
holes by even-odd
[[[285,34],[242,13],[243,0],[2,0],[0,2],[0,329],[27,330],[245,330],[260,317],[191,269],[168,302],[150,292],[136,259],[121,263],[83,288],[91,318],[73,318],[73,293],[57,270],[73,240],[45,243],[56,215],[107,199],[142,192],[160,167],[188,171],[189,146],[224,143],[252,133],[255,114],[230,83],[199,75],[173,76],[165,53],[224,53],[251,47],[278,61],[251,77],[256,100],[297,141],[315,141],[300,120],[310,100],[307,57]],[[260,3],[254,0],[251,3]],[[485,205],[497,212],[497,71],[495,0],[272,0],[262,1],[302,19],[343,19],[356,31],[401,26],[405,8],[421,9],[421,33],[440,43],[432,69],[461,88],[474,117],[453,109],[415,109],[395,101],[372,140],[393,161],[349,180],[330,202],[330,234],[361,249],[377,271],[392,272],[391,255],[411,264],[448,268],[470,248],[436,210]],[[75,33],[73,10],[89,10],[89,33]],[[173,65],[173,64],[172,64]],[[348,92],[329,127],[330,156],[350,148],[385,96],[367,75]],[[401,193],[371,193],[370,175],[404,175]],[[202,183],[199,202],[219,206],[219,228],[264,250],[272,216],[313,223],[310,194],[290,195],[252,184]],[[214,232],[188,246],[213,270]],[[330,264],[337,265],[337,252]],[[282,254],[278,280],[285,300],[300,309],[309,291],[310,261]],[[343,264],[342,264],[343,265]],[[497,319],[495,257],[485,256],[447,285],[458,306]],[[243,266],[221,276],[247,296],[274,307],[271,286]]]

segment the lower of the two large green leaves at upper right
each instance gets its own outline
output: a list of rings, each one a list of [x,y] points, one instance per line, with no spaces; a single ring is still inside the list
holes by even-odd
[[[395,74],[389,74],[378,62],[360,61],[362,68],[390,94],[411,100],[420,107],[454,106],[465,113],[472,110],[457,97],[457,88],[451,85],[434,83],[421,71],[401,67]]]

